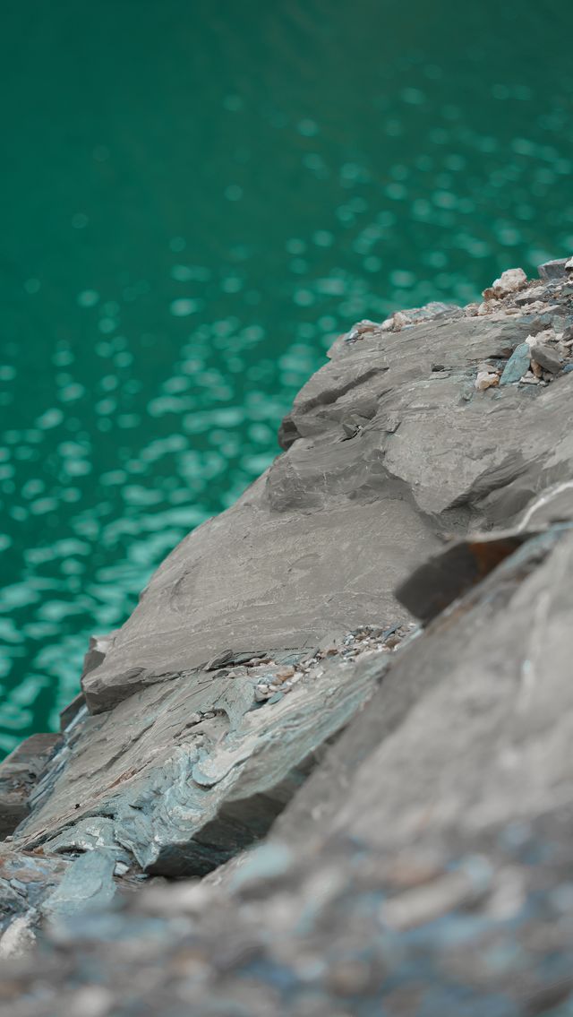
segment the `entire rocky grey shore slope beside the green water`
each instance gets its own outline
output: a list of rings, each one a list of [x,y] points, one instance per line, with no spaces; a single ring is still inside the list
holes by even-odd
[[[0,1014],[570,1013],[572,375],[572,258],[336,340],[0,767]]]

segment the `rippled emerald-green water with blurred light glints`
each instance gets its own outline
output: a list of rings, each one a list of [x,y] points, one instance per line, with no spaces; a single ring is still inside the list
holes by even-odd
[[[277,452],[335,335],[573,250],[563,2],[4,12],[0,751]]]

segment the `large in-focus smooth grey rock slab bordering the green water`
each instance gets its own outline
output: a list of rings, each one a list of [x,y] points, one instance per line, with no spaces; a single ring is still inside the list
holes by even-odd
[[[549,419],[512,390],[473,393],[480,363],[507,360],[531,320],[446,318],[335,344],[283,424],[286,453],[168,556],[104,659],[90,660],[90,711],[222,650],[312,649],[334,630],[405,620],[396,583],[438,548],[437,531],[465,533],[471,501],[521,470],[521,412],[531,432]],[[539,448],[549,441],[543,431]]]

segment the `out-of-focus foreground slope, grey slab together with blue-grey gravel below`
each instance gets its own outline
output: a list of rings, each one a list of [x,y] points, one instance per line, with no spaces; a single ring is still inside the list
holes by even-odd
[[[2,1017],[566,1014],[573,524],[507,550],[388,658],[266,843],[96,912],[110,865],[80,855]]]

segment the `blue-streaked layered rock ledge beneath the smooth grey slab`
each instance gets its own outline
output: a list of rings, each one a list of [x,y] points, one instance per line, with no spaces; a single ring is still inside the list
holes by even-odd
[[[267,832],[385,660],[325,659],[273,703],[254,695],[268,665],[190,673],[84,716],[15,843],[68,856],[97,848],[163,876],[209,872]]]

